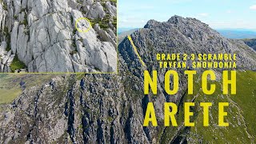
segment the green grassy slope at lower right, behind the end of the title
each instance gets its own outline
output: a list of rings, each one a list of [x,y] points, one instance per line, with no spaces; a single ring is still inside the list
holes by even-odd
[[[209,127],[202,126],[202,109],[197,108],[198,116],[195,118],[195,126],[191,127],[190,134],[187,136],[192,139],[190,142],[197,143],[199,139],[206,143],[252,142],[246,133],[256,135],[256,130],[254,130],[256,73],[238,72],[237,94],[235,95],[223,95],[221,82],[215,82],[215,84],[216,91],[214,94],[205,95],[200,91],[198,98],[195,99],[196,103],[212,102],[213,106],[210,108]],[[226,121],[230,123],[230,126],[218,126],[218,102],[229,102],[230,106],[226,107],[228,112]],[[245,129],[246,126],[248,126],[248,130]]]

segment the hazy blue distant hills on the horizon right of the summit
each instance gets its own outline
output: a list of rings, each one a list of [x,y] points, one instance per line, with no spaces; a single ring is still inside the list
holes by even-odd
[[[225,38],[243,39],[256,38],[256,30],[227,29],[217,30]]]

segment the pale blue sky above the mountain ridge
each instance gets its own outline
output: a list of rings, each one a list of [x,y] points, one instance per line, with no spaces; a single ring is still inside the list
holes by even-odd
[[[197,18],[214,29],[256,30],[256,0],[118,0],[118,27],[141,28],[150,19]]]

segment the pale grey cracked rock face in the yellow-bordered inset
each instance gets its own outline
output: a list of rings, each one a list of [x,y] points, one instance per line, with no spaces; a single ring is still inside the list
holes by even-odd
[[[0,3],[0,42],[7,43],[28,72],[115,72],[114,10],[116,2],[108,1],[4,0]],[[87,32],[77,30],[79,18],[99,23],[99,31],[94,26]],[[103,28],[104,18],[108,23]],[[78,29],[87,29],[90,23],[78,21]]]

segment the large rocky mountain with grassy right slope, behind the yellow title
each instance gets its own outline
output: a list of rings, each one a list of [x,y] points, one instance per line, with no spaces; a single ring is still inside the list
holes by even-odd
[[[6,85],[21,84],[21,94],[6,101],[0,109],[1,143],[253,143],[255,54],[239,40],[223,38],[217,31],[194,18],[174,16],[167,22],[150,20],[142,29],[130,34],[118,45],[118,74],[50,75],[48,82],[30,84],[33,75],[15,79],[2,75]],[[200,73],[194,79],[194,94],[187,95],[186,76],[180,74],[178,94],[164,90],[166,70],[158,68],[157,53],[237,53],[238,94],[222,95],[221,80],[213,95],[202,94]],[[138,58],[142,57],[142,61]],[[144,70],[158,70],[158,94],[143,93]],[[217,75],[221,75],[216,70]],[[48,77],[48,78],[49,78]],[[46,78],[47,79],[47,78]],[[22,82],[21,82],[22,80]],[[35,79],[36,80],[36,79]],[[39,85],[41,83],[41,86]],[[2,90],[11,90],[4,86]],[[13,90],[12,90],[13,91]],[[11,92],[11,91],[10,91]],[[183,102],[213,102],[210,126],[202,126],[202,109],[194,107],[195,127],[182,125]],[[154,102],[159,126],[143,127],[148,102]],[[178,127],[163,126],[163,104],[178,105]],[[217,102],[230,102],[226,121],[218,127]]]

